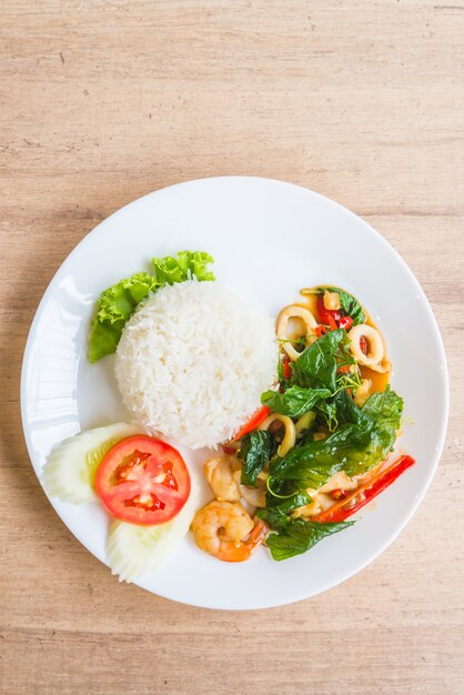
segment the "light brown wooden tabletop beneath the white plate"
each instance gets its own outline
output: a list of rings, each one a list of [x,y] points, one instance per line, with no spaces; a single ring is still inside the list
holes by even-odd
[[[463,693],[464,2],[3,0],[1,24],[2,693]],[[19,412],[29,325],[71,249],[134,198],[232,173],[380,230],[452,377],[401,537],[316,598],[243,614],[119,585],[46,500]]]

